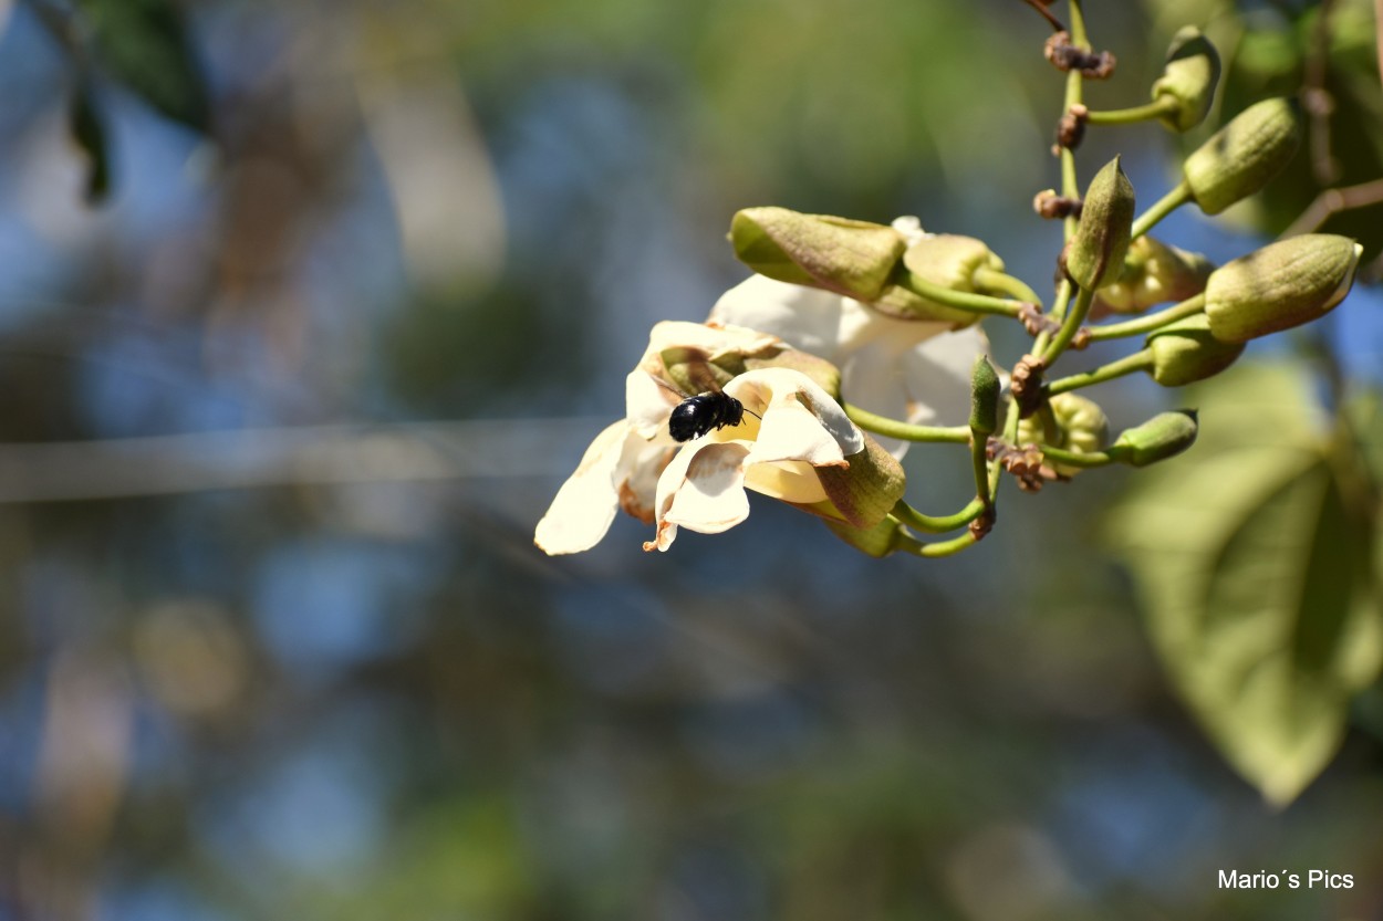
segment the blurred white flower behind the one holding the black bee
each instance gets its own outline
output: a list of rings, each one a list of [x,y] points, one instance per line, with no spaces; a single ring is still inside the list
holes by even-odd
[[[780,336],[841,369],[842,397],[914,425],[964,425],[975,355],[989,353],[978,326],[898,319],[851,297],[754,275],[727,290],[711,321]],[[895,456],[907,443],[878,438]]]

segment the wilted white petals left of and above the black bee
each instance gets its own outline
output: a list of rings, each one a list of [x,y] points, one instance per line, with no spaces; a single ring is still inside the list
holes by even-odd
[[[776,336],[751,329],[657,324],[639,366],[625,379],[626,416],[596,436],[577,472],[538,521],[534,543],[552,555],[589,550],[610,530],[618,509],[653,523],[658,474],[678,447],[668,434],[668,416],[683,398],[660,383],[667,379],[665,354],[680,351],[714,360],[781,348],[783,342]]]

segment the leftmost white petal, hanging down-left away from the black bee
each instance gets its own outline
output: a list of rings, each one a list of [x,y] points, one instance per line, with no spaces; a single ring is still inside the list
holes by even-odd
[[[628,433],[629,426],[622,419],[606,427],[586,448],[577,472],[557,490],[532,535],[532,542],[545,553],[589,550],[610,530],[620,508],[615,467]]]

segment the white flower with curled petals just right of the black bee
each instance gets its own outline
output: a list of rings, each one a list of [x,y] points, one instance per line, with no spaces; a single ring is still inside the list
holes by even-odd
[[[787,368],[745,372],[725,393],[744,404],[744,422],[712,430],[678,451],[658,477],[657,535],[644,550],[667,550],[678,527],[703,534],[734,527],[750,514],[747,488],[841,521],[877,524],[882,512],[874,506],[880,503],[860,502],[857,484],[845,488],[839,477],[826,473],[849,470],[848,458],[862,456],[866,448],[863,433],[830,394]],[[884,510],[900,487],[900,472],[881,484]]]

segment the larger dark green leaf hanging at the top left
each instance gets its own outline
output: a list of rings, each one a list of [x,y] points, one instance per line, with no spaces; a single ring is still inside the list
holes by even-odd
[[[205,133],[206,83],[170,0],[77,0],[97,59],[170,119]]]

